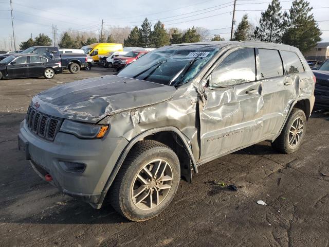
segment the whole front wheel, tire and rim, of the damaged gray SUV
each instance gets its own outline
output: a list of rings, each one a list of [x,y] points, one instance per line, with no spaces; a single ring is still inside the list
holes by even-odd
[[[175,152],[155,140],[142,140],[127,155],[111,186],[112,206],[129,220],[151,219],[170,204],[179,180]]]

